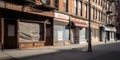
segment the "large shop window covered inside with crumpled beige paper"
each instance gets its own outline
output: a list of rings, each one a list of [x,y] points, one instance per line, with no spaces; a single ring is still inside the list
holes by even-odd
[[[38,23],[19,23],[20,41],[42,41],[44,36],[43,24]]]

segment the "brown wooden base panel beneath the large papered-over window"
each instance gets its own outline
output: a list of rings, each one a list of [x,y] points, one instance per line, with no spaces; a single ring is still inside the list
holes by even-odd
[[[45,42],[20,42],[19,48],[34,48],[34,47],[43,47]]]

